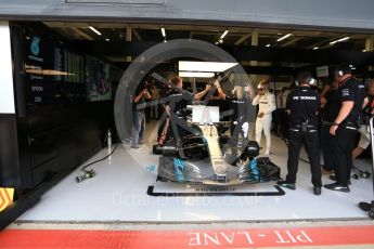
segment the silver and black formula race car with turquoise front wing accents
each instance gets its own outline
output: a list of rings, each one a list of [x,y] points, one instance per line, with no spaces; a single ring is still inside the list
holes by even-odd
[[[158,180],[206,185],[280,180],[278,166],[268,157],[257,158],[257,142],[243,143],[229,136],[229,126],[219,121],[218,107],[193,106],[192,119],[183,128],[169,124],[172,134],[164,144],[153,146],[153,153],[160,155]]]

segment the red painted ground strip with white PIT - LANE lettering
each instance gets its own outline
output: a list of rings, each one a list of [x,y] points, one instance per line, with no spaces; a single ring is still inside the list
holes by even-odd
[[[374,226],[191,231],[5,230],[0,248],[262,248],[374,245]]]

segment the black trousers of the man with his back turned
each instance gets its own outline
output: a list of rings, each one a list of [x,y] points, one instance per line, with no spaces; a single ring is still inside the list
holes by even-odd
[[[295,131],[298,130],[298,131]],[[320,147],[318,132],[301,132],[300,128],[289,129],[288,131],[288,161],[286,181],[296,183],[296,174],[298,170],[299,155],[301,146],[305,146],[312,174],[311,182],[313,186],[321,187],[321,166],[320,166]]]

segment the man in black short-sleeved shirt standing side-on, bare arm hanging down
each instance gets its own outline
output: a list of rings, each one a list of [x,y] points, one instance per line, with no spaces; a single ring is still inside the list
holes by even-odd
[[[350,65],[339,65],[335,70],[339,80],[339,110],[334,119],[330,133],[333,135],[333,152],[337,166],[336,182],[324,185],[331,191],[350,192],[349,175],[352,168],[352,150],[357,130],[362,121],[362,105],[365,99],[365,87],[352,76]]]

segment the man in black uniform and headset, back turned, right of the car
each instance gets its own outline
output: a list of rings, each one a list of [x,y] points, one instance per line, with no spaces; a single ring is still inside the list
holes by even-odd
[[[304,145],[310,161],[313,192],[321,195],[321,167],[319,148],[319,117],[318,110],[321,104],[318,93],[310,89],[314,79],[308,71],[297,76],[299,88],[289,93],[286,108],[289,112],[288,129],[288,161],[287,176],[285,181],[279,181],[278,185],[296,189],[296,174],[300,148]]]

